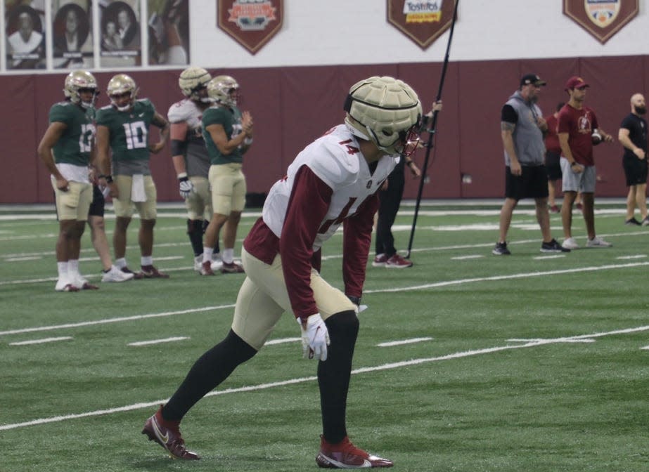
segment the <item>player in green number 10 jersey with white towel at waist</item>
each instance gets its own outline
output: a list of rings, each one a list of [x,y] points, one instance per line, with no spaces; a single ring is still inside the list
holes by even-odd
[[[153,266],[153,227],[158,216],[157,193],[149,167],[150,153],[157,154],[167,143],[169,123],[155,111],[148,98],[137,99],[138,87],[126,74],[108,82],[110,105],[97,111],[97,152],[103,176],[115,208],[113,247],[115,265],[133,273],[126,261],[127,228],[135,210],[140,216],[141,272],[135,278],[167,278]],[[149,128],[160,128],[160,141],[149,143]],[[109,149],[113,151],[112,174]]]

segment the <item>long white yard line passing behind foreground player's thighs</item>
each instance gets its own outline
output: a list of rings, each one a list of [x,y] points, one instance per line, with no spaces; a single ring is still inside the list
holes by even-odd
[[[492,244],[489,244],[490,246]],[[386,292],[394,291],[410,291],[410,290],[425,290],[425,289],[434,289],[437,287],[448,287],[450,285],[461,285],[468,284],[473,282],[487,282],[487,281],[496,281],[496,280],[511,280],[511,279],[522,279],[525,277],[545,277],[546,275],[557,275],[557,274],[569,274],[569,273],[580,273],[580,272],[594,272],[596,270],[610,270],[610,269],[624,269],[631,267],[643,267],[649,265],[649,262],[632,262],[626,264],[608,264],[594,267],[584,267],[584,268],[572,268],[564,270],[546,270],[543,272],[532,272],[532,273],[519,273],[519,274],[510,274],[510,275],[494,275],[491,277],[475,277],[472,279],[459,279],[459,280],[446,280],[442,282],[435,282],[432,284],[424,285],[413,285],[412,287],[399,287],[399,288],[382,288],[382,289],[369,289],[365,290],[365,294],[381,294]],[[56,279],[44,279],[44,280],[56,280]],[[0,282],[0,285],[2,283]],[[148,315],[134,315],[129,317],[120,317],[120,318],[106,318],[104,320],[95,320],[95,321],[84,321],[78,323],[70,323],[66,325],[53,325],[53,326],[41,326],[34,328],[23,328],[23,329],[11,329],[9,331],[0,331],[0,336],[5,336],[6,334],[20,334],[20,333],[30,333],[30,332],[39,332],[39,331],[51,331],[54,329],[65,329],[65,328],[75,328],[81,326],[92,326],[92,325],[105,325],[107,323],[116,323],[122,321],[133,321],[133,320],[145,320],[147,318],[155,317],[165,317],[172,315],[186,315],[188,313],[197,313],[201,311],[208,310],[221,310],[224,308],[233,308],[234,304],[230,305],[221,305],[221,306],[206,306],[203,308],[191,308],[188,310],[172,311],[167,313],[150,313]]]

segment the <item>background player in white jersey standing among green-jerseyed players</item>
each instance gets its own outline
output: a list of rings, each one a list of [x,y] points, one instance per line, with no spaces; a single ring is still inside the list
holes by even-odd
[[[206,218],[212,216],[212,192],[207,174],[210,155],[207,154],[201,131],[203,112],[212,105],[207,96],[207,83],[212,79],[203,67],[188,67],[181,72],[178,85],[186,97],[169,107],[167,119],[171,124],[172,161],[178,176],[179,193],[187,207],[187,235],[194,252],[194,270],[203,270],[203,232]],[[216,263],[220,264],[218,249]],[[220,268],[220,267],[219,267]]]

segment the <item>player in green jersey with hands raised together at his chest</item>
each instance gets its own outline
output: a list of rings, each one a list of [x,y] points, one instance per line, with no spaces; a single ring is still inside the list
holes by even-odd
[[[239,84],[227,75],[214,77],[207,83],[210,108],[203,112],[203,138],[210,155],[210,187],[214,215],[205,230],[203,268],[211,273],[212,251],[224,226],[221,273],[243,273],[234,262],[234,242],[245,206],[245,176],[241,171],[243,155],[252,144],[252,116],[237,107]]]

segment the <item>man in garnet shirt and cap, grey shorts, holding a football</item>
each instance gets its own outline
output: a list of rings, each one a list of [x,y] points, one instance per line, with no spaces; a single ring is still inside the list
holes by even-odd
[[[595,112],[584,105],[586,84],[581,77],[570,77],[565,90],[570,100],[559,112],[558,135],[563,156],[561,171],[563,173],[563,206],[561,222],[563,223],[563,247],[579,249],[579,244],[572,237],[572,204],[581,191],[584,221],[588,240],[586,247],[611,247],[612,244],[595,234],[595,216],[593,212],[596,169],[593,159],[593,133],[599,133],[599,140],[612,142],[613,137],[598,126]]]

